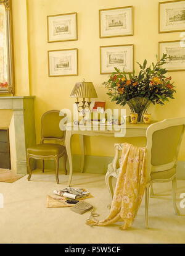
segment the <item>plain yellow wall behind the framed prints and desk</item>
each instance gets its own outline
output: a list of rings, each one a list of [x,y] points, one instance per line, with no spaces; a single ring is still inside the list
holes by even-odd
[[[131,5],[134,6],[134,36],[100,39],[98,10]],[[99,74],[99,46],[133,43],[135,60],[142,62],[146,58],[147,61],[152,62],[155,61],[155,54],[158,53],[158,41],[180,40],[178,32],[158,34],[158,0],[13,0],[13,11],[16,92],[17,95],[27,95],[30,92],[31,95],[36,96],[35,118],[38,142],[41,115],[49,109],[72,109],[73,99],[69,98],[69,95],[75,82],[81,81],[83,78],[94,83],[99,100],[105,100],[107,108],[117,107],[114,103],[110,103],[105,94],[106,89],[101,85],[107,80],[107,75]],[[47,43],[46,16],[68,12],[78,12],[78,41]],[[28,45],[25,42],[27,39]],[[79,49],[79,75],[48,77],[47,51],[68,48]],[[134,65],[137,72],[138,66]],[[25,70],[23,66],[25,66]],[[27,75],[28,70],[29,76]],[[176,82],[176,99],[171,100],[165,106],[151,106],[150,113],[155,120],[184,116],[184,72],[171,72],[168,75],[171,75]],[[127,113],[130,113],[128,107],[126,110]],[[127,139],[126,141],[138,145],[144,145],[145,142],[143,138]],[[114,142],[123,142],[123,139],[87,138],[86,154],[111,156],[114,153]],[[77,137],[73,139],[73,152],[79,152]],[[179,160],[184,159],[185,140]]]

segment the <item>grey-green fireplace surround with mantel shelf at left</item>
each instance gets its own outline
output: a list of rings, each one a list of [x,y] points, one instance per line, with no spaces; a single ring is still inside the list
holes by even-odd
[[[9,128],[11,166],[17,174],[27,174],[26,150],[36,143],[34,100],[35,96],[0,97],[0,113],[12,112],[4,116],[2,111],[0,128]]]

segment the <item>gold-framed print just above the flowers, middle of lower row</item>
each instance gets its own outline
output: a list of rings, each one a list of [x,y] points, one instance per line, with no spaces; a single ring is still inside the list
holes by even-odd
[[[104,49],[109,51],[104,51]],[[112,48],[125,48],[124,51],[124,56],[123,53],[119,53],[119,51],[115,50],[114,52],[112,51]],[[126,50],[128,51],[130,48],[130,55],[132,59],[128,59],[130,58],[130,55],[126,53]],[[112,56],[111,56],[112,55]],[[119,57],[120,55],[120,60],[116,59],[117,56]],[[104,60],[104,58],[107,60]],[[112,59],[115,61],[115,63],[113,63]],[[121,59],[123,58],[123,59]],[[125,58],[125,59],[124,59]],[[108,46],[100,46],[100,74],[112,74],[112,72],[115,71],[114,67],[118,67],[118,69],[123,68],[124,69],[124,65],[122,67],[121,62],[124,60],[127,61],[127,64],[130,64],[130,69],[125,70],[126,73],[133,73],[134,71],[134,45],[133,44],[129,44],[129,45],[108,45]],[[120,62],[120,63],[119,63]]]

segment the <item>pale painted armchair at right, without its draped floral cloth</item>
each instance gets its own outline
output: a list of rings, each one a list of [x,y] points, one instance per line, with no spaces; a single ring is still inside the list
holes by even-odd
[[[176,165],[179,148],[185,129],[185,117],[165,119],[151,124],[147,137],[147,185],[145,192],[145,222],[148,228],[149,189],[154,182],[172,182],[172,200],[175,213],[180,215],[176,206]],[[117,178],[120,172],[120,153],[123,144],[115,144],[115,157],[108,166],[105,182],[113,198],[112,177]],[[153,193],[153,189],[152,189]]]

